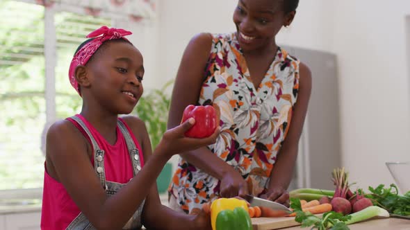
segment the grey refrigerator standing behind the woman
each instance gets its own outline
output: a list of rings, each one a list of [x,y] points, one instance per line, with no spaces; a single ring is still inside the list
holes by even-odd
[[[334,189],[331,172],[341,166],[337,58],[333,53],[282,46],[312,73],[312,91],[300,139],[294,188]]]

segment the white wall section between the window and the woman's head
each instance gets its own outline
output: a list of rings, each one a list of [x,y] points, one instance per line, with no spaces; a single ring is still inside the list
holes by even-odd
[[[236,0],[158,1],[161,79],[175,78],[182,53],[195,34],[235,30],[232,14],[236,3]]]

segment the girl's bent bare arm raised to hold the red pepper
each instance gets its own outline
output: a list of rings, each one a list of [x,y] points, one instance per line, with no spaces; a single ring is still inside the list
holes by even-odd
[[[145,125],[138,119],[137,130],[146,134]],[[47,134],[47,170],[61,182],[81,212],[97,229],[121,229],[140,206],[156,182],[161,169],[172,154],[215,141],[218,132],[207,139],[183,138],[190,123],[168,130],[152,154],[151,160],[131,182],[118,193],[107,197],[90,162],[90,146],[83,134],[69,121],[52,125]],[[118,166],[121,167],[121,166]]]

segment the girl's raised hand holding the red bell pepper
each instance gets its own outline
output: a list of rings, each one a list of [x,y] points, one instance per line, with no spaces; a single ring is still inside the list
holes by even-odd
[[[195,150],[197,148],[215,143],[218,135],[220,134],[220,127],[217,127],[211,136],[203,139],[186,137],[185,133],[194,124],[195,119],[189,118],[181,125],[167,130],[158,144],[158,148],[161,148],[161,152],[166,152],[168,156],[172,156],[173,154]]]

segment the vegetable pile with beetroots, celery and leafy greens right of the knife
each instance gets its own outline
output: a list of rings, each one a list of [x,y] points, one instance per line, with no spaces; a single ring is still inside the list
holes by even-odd
[[[336,168],[332,172],[335,191],[315,188],[290,191],[290,208],[293,209],[290,216],[295,216],[295,221],[300,222],[302,227],[343,230],[349,229],[347,224],[377,216],[388,218],[389,213],[410,215],[410,191],[399,195],[395,184],[389,188],[380,184],[376,188],[369,186],[370,193],[363,193],[362,189],[353,193],[348,176],[344,168]],[[305,203],[314,203],[315,209],[304,206]],[[325,204],[327,208],[323,209]],[[322,217],[313,215],[317,213],[323,213]]]

